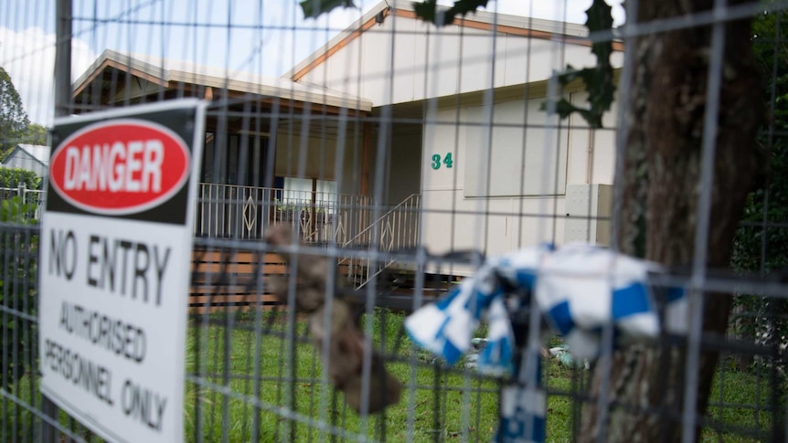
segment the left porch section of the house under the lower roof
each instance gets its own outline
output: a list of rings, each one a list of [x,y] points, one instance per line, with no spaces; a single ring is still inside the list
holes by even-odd
[[[353,208],[370,206],[368,170],[354,158],[362,140],[368,142],[358,122],[371,110],[368,100],[111,49],[77,79],[73,97],[77,112],[178,97],[212,101],[198,188],[199,237],[261,238],[269,223],[297,220],[308,240],[326,241],[337,217],[342,242],[363,228],[365,215]],[[339,131],[357,135],[343,144],[344,162],[336,163]]]

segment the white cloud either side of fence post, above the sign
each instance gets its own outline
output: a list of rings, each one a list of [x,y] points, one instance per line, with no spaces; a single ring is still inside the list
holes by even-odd
[[[71,43],[71,80],[96,58],[80,39]],[[0,26],[0,66],[11,80],[31,121],[51,126],[54,116],[55,35],[41,27],[14,31]]]

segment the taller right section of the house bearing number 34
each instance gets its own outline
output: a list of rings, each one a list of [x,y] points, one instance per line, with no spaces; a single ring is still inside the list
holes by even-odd
[[[487,254],[537,242],[608,237],[615,108],[590,131],[540,107],[567,64],[593,66],[585,26],[476,12],[453,25],[382,2],[284,77],[372,103],[378,190],[421,195],[421,244]],[[612,63],[623,61],[613,42]],[[570,84],[560,96],[581,105]],[[373,190],[374,191],[374,190]]]

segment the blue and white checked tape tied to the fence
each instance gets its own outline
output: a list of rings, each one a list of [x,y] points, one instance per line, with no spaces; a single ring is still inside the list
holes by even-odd
[[[478,358],[479,370],[516,374],[515,383],[501,392],[496,440],[544,441],[546,400],[541,374],[537,370],[524,376],[524,362],[513,364],[516,343],[506,296],[531,294],[570,353],[576,359],[595,358],[601,352],[602,329],[610,323],[617,343],[655,339],[662,328],[686,332],[683,288],[667,288],[662,319],[657,312],[649,274],[662,271],[655,263],[594,245],[523,248],[488,259],[444,299],[413,312],[405,320],[405,330],[414,343],[455,364],[471,350],[474,331],[485,322],[487,337]]]

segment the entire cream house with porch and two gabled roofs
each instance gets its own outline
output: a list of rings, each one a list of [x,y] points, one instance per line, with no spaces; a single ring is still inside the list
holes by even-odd
[[[590,47],[584,26],[476,12],[439,28],[389,0],[279,79],[107,50],[74,98],[213,101],[201,195],[218,203],[198,209],[198,235],[259,236],[289,211],[312,239],[496,254],[606,241],[615,108],[595,131],[541,110],[548,95],[584,103],[580,83],[551,79],[594,65]],[[250,217],[254,202],[273,209]]]

